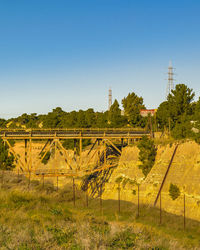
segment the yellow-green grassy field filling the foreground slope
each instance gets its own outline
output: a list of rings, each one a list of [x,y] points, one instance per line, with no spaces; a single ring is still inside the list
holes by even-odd
[[[0,189],[0,249],[200,249],[200,223],[159,210],[121,202],[89,199],[72,186],[58,191],[14,174]]]

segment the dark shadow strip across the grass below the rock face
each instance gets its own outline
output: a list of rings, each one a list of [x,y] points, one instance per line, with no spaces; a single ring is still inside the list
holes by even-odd
[[[105,220],[114,222],[139,223],[147,227],[151,227],[155,231],[163,232],[173,238],[184,240],[192,243],[192,245],[200,246],[200,222],[186,218],[186,228],[184,230],[184,218],[175,214],[162,210],[162,222],[160,224],[160,210],[155,207],[149,207],[140,204],[139,217],[137,205],[117,200],[102,200],[102,208],[100,199],[89,199],[89,206],[78,200],[76,206],[69,204],[71,209],[88,212],[96,217],[103,217]]]

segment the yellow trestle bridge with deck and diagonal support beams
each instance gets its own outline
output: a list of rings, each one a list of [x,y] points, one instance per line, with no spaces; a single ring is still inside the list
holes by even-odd
[[[20,171],[44,176],[84,176],[100,171],[105,171],[113,167],[109,161],[109,150],[117,152],[118,156],[124,145],[131,140],[140,139],[142,136],[150,137],[149,131],[135,130],[133,128],[59,128],[59,129],[0,129],[0,138],[8,145],[10,152],[16,159],[17,168]],[[91,147],[87,151],[87,162],[82,161],[83,140],[90,139]],[[16,153],[10,140],[24,141],[24,157]],[[33,161],[33,141],[44,143],[42,150]],[[63,146],[65,140],[73,140],[74,150],[70,156],[68,150]],[[56,161],[58,155],[64,158],[66,169],[60,171],[39,169],[42,161],[49,152],[53,151]],[[91,162],[97,158],[97,164],[91,167]],[[56,163],[55,163],[56,166]]]

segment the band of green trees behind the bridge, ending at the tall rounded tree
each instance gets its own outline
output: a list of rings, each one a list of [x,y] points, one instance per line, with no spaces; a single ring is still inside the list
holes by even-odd
[[[5,128],[121,128],[127,126],[145,127],[146,119],[140,116],[140,109],[145,108],[143,98],[135,93],[128,94],[122,100],[124,115],[120,105],[114,100],[109,111],[95,112],[92,108],[65,112],[61,107],[48,114],[22,114],[17,118],[0,119],[0,127]]]

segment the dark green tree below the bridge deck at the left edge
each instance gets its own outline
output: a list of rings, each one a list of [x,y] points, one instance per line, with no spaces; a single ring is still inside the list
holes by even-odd
[[[9,153],[8,146],[4,145],[3,140],[0,138],[0,169],[11,170],[14,167],[14,156]]]

